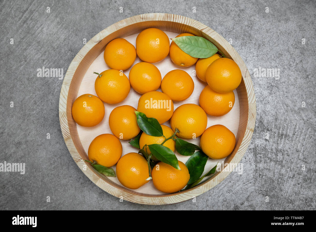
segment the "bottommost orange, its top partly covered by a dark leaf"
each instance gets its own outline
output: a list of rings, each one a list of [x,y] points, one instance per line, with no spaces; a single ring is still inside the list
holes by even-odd
[[[175,169],[169,164],[159,162],[151,172],[155,187],[164,193],[180,191],[190,180],[188,168],[179,161],[181,170]]]

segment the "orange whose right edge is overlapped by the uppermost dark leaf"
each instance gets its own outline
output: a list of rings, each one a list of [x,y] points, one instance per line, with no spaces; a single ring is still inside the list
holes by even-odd
[[[140,132],[137,124],[136,109],[130,105],[114,108],[109,116],[109,126],[112,133],[122,140],[130,140]]]

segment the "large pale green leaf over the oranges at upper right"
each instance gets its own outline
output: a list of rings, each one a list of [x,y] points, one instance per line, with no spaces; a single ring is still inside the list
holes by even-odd
[[[172,41],[191,57],[208,58],[218,51],[214,44],[199,36],[181,36],[173,38]]]

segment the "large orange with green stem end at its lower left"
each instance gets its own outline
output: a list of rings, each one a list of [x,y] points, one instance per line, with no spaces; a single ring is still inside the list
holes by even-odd
[[[193,139],[203,134],[207,126],[204,110],[196,104],[183,104],[174,110],[170,120],[172,130],[177,128],[176,135],[183,139]]]

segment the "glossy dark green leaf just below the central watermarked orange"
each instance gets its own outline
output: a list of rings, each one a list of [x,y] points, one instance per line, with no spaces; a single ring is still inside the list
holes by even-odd
[[[148,118],[142,112],[135,111],[137,124],[140,129],[151,136],[163,136],[161,125],[155,118]]]

